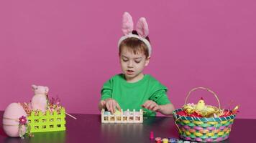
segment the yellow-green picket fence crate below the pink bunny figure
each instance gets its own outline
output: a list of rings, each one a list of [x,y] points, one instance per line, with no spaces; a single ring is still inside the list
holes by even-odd
[[[52,132],[52,131],[65,131],[65,109],[60,109],[60,113],[54,111],[50,114],[49,111],[46,114],[38,112],[35,114],[31,112],[27,117],[30,132]]]

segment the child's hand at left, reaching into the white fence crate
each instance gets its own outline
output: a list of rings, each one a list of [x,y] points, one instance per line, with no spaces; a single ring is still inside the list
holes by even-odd
[[[102,100],[102,101],[101,101],[101,105],[102,105],[103,107],[106,107],[106,109],[107,109],[108,111],[110,111],[111,114],[114,114],[114,112],[116,112],[116,108],[117,108],[119,111],[121,111],[121,107],[120,107],[119,104],[116,102],[116,100],[111,99],[111,98]]]

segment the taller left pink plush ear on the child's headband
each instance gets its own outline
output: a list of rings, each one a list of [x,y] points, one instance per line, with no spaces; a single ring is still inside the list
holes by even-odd
[[[131,34],[133,30],[133,21],[132,16],[128,12],[124,12],[122,24],[124,35]]]

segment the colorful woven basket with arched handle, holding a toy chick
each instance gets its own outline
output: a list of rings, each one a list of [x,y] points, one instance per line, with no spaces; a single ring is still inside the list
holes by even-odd
[[[196,89],[206,89],[207,91],[211,92],[214,94],[219,103],[218,97],[210,89],[204,87],[196,87],[188,92],[185,104],[187,104],[187,99],[191,92]],[[175,120],[176,127],[178,128],[180,138],[197,142],[220,142],[224,139],[227,139],[229,137],[234,118],[236,117],[235,114],[227,117],[211,118],[178,115],[177,112],[182,110],[183,109],[175,109],[175,111],[173,111],[173,118]]]

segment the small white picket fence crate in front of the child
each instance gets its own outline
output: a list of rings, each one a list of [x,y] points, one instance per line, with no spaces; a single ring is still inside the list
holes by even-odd
[[[140,112],[133,111],[123,112],[123,109],[118,114],[111,114],[111,112],[101,110],[101,123],[143,123],[143,110]]]

